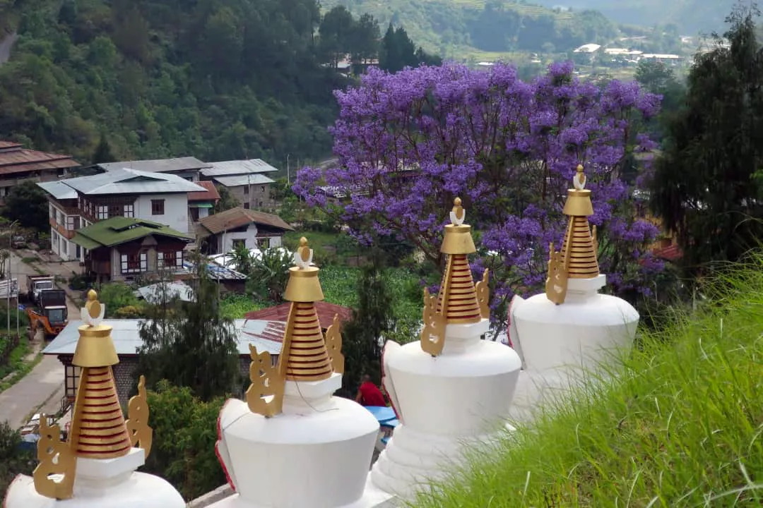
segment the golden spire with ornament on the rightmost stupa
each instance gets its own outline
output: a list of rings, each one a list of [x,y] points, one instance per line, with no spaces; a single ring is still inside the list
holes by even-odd
[[[591,235],[588,216],[594,214],[591,204],[591,190],[585,188],[586,177],[583,166],[572,177],[574,189],[567,191],[567,202],[563,213],[569,217],[567,231],[562,242],[562,251],[549,249],[549,277],[546,280],[546,297],[560,305],[567,296],[568,279],[592,279],[599,275],[597,260],[596,226]]]

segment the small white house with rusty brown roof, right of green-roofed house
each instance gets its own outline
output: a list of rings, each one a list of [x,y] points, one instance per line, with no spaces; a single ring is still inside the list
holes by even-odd
[[[199,220],[198,244],[206,254],[224,254],[234,248],[281,247],[285,232],[294,231],[281,217],[237,206]]]

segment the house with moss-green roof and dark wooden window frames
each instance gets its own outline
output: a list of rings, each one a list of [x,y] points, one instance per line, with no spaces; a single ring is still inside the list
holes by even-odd
[[[85,273],[99,282],[182,273],[183,250],[192,241],[168,225],[119,216],[78,229],[72,238],[85,249]]]

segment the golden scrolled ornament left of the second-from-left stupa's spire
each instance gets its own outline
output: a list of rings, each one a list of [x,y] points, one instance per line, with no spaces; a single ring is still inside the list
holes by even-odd
[[[285,379],[278,375],[278,368],[273,366],[272,357],[267,351],[257,353],[257,348],[250,344],[249,353],[252,363],[249,366],[249,379],[252,382],[246,389],[246,405],[249,410],[263,417],[270,418],[283,411]],[[269,397],[270,400],[266,400]]]

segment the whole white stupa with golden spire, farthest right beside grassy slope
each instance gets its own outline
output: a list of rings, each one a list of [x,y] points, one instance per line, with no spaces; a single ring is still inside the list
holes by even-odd
[[[606,276],[599,273],[596,228],[591,234],[588,224],[594,209],[585,181],[578,166],[564,208],[569,219],[562,251],[551,245],[545,294],[515,297],[511,305],[511,340],[523,356],[523,385],[525,377],[533,380],[536,389],[526,392],[536,400],[544,387],[566,388],[618,349],[631,347],[639,324],[628,302],[598,292]]]

